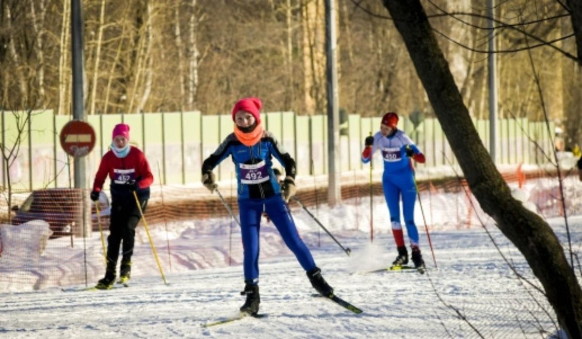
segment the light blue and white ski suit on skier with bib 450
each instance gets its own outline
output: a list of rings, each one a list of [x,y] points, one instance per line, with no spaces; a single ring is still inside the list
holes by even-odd
[[[392,223],[392,232],[395,236],[396,245],[402,238],[402,224],[400,224],[400,196],[402,196],[402,210],[404,223],[411,246],[418,246],[418,229],[414,223],[414,204],[416,203],[416,185],[414,183],[414,171],[410,159],[406,156],[406,147],[409,146],[414,154],[421,154],[418,147],[409,136],[402,130],[395,130],[388,136],[377,132],[374,135],[374,143],[370,157],[362,156],[362,162],[370,162],[374,153],[379,150],[384,160],[384,174],[382,175],[382,188]]]

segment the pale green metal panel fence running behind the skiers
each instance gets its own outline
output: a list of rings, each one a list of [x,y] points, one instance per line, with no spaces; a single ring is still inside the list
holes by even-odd
[[[59,133],[71,116],[54,115],[51,110],[30,112],[3,111],[0,142],[5,150],[17,147],[15,159],[8,168],[0,168],[2,186],[6,187],[8,171],[13,189],[32,190],[45,187],[69,187],[72,182],[72,161],[59,144]],[[294,112],[268,112],[262,115],[265,128],[272,133],[297,160],[298,175],[327,173],[327,116],[296,115]],[[108,114],[88,116],[95,129],[97,142],[87,156],[88,177],[92,180],[102,155],[111,144],[111,131],[116,123],[130,125],[130,142],[144,151],[154,175],[166,184],[187,184],[200,181],[200,166],[233,130],[230,114],[202,115],[200,112],[164,112],[143,114]],[[363,140],[379,130],[381,118],[347,115],[346,128],[340,135],[340,168],[354,171],[363,168],[360,161]],[[474,119],[474,126],[489,148],[489,122]],[[420,167],[456,164],[452,150],[437,119],[425,119],[415,126],[402,117],[404,130],[427,156]],[[498,164],[545,163],[543,153],[552,150],[545,122],[525,118],[502,119],[496,141]],[[553,125],[549,130],[553,130]],[[536,143],[531,142],[536,140]],[[6,154],[6,152],[5,152]],[[381,159],[375,159],[381,165]],[[232,177],[233,164],[223,161],[217,169],[219,179]]]

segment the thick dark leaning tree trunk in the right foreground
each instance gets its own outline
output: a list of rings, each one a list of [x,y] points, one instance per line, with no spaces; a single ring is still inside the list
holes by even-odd
[[[549,225],[512,198],[471,122],[423,6],[418,0],[384,0],[384,6],[481,208],[526,257],[560,326],[570,338],[582,338],[582,291],[564,250]]]

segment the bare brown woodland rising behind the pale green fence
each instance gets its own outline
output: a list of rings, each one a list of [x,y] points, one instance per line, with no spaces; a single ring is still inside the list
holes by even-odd
[[[422,1],[464,103],[488,116],[486,1]],[[0,107],[70,114],[70,1],[0,0]],[[324,0],[83,0],[87,114],[224,114],[240,97],[265,111],[325,114]],[[434,117],[381,1],[336,0],[340,113]],[[499,118],[549,118],[581,143],[582,72],[559,1],[498,1]],[[509,26],[513,29],[510,29]],[[518,29],[516,30],[515,27]],[[549,41],[526,41],[520,29]],[[539,95],[527,52],[540,73]],[[559,48],[559,50],[558,50]],[[542,105],[541,97],[545,103]]]

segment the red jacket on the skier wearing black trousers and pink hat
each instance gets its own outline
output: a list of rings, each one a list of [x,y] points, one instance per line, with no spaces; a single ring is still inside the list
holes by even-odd
[[[101,158],[97,174],[95,174],[94,191],[101,191],[107,175],[111,180],[112,199],[130,195],[130,191],[125,185],[130,180],[137,182],[137,194],[140,197],[147,199],[150,196],[149,188],[154,182],[154,175],[151,174],[150,164],[148,164],[143,152],[136,147],[130,146],[129,153],[125,158],[116,157],[111,150],[105,153]]]

